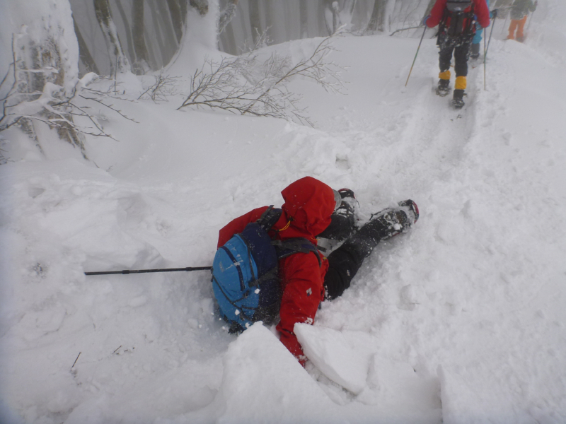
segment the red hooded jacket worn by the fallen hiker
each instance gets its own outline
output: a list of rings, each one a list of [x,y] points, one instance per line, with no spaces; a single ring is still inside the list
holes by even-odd
[[[330,225],[330,216],[334,212],[333,189],[318,179],[304,177],[290,184],[281,194],[285,201],[283,213],[270,235],[278,240],[305,237],[316,245],[315,236]],[[267,206],[253,209],[232,220],[220,230],[218,247],[242,232],[248,223],[258,220],[266,209]],[[282,343],[303,365],[304,353],[293,329],[297,322],[313,324],[318,305],[324,300],[327,270],[328,260],[323,258],[322,266],[319,266],[316,255],[312,253],[296,253],[279,261],[283,296],[277,330]]]

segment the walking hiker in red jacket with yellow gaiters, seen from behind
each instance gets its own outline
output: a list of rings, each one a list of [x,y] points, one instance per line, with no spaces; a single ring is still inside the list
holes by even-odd
[[[426,20],[429,28],[439,25],[437,45],[439,51],[439,82],[437,94],[450,92],[450,61],[454,53],[456,83],[452,105],[461,108],[468,76],[470,45],[475,34],[475,17],[482,28],[490,25],[490,10],[485,0],[437,0]]]

